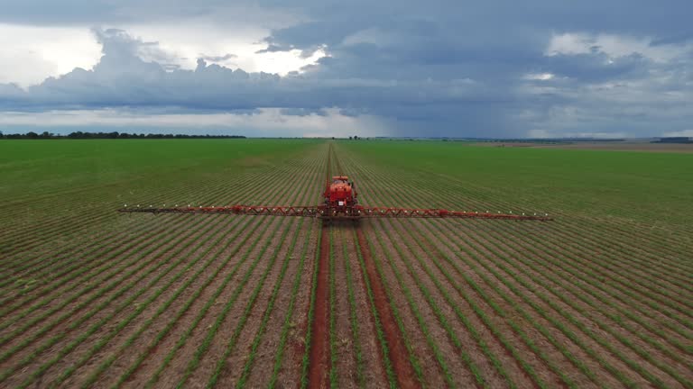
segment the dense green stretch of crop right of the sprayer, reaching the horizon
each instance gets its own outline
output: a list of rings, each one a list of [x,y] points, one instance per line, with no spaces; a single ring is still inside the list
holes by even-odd
[[[488,148],[454,142],[358,142],[345,147],[369,164],[457,180],[515,206],[547,212],[690,224],[693,156],[588,149]],[[364,162],[365,163],[365,162]],[[460,205],[466,205],[461,196]],[[491,206],[491,204],[489,204]],[[507,210],[503,210],[507,211]]]

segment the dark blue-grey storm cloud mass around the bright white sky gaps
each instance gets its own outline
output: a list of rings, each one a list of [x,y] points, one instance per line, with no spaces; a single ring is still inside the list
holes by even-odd
[[[36,2],[10,5],[0,22],[135,23],[186,14],[228,23],[226,15],[243,17],[216,1],[180,2],[161,12],[153,10],[166,2],[141,5],[147,12],[134,12],[139,3],[72,1],[78,11],[71,15],[53,2],[42,2],[42,13],[29,12],[28,4]],[[279,107],[289,115],[337,107],[347,115],[391,118],[399,122],[400,134],[448,136],[524,136],[531,131],[642,136],[689,130],[693,119],[689,1],[258,4],[268,10],[281,7],[302,21],[272,30],[259,53],[301,50],[310,57],[325,50],[328,57],[287,77],[207,62],[232,59],[228,55],[201,55],[198,68],[181,70],[172,68],[156,42],[95,30],[104,57],[93,70],[75,69],[25,92],[0,86],[0,106],[175,106],[200,112]],[[623,38],[626,46],[628,40],[649,40],[650,47],[675,54],[655,59],[637,48],[610,53],[595,46],[547,55],[552,37],[564,33],[608,34]]]

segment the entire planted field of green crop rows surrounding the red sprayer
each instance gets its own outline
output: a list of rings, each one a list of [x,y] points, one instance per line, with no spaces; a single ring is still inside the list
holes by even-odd
[[[556,220],[115,213],[318,204],[328,170],[368,205]],[[457,142],[2,140],[0,387],[693,387],[691,171]]]

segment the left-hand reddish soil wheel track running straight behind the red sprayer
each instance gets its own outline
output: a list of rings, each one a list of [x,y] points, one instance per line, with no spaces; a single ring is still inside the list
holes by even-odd
[[[328,387],[329,379],[329,230],[323,226],[320,231],[320,259],[318,263],[318,286],[315,298],[315,316],[310,344],[309,386]]]

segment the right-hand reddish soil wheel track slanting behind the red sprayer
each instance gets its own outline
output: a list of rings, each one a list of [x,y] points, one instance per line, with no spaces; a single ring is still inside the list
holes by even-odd
[[[393,370],[395,375],[397,375],[397,384],[399,387],[420,387],[414,375],[414,369],[407,358],[409,351],[404,345],[402,333],[397,327],[397,323],[394,321],[393,312],[390,310],[390,304],[387,302],[387,295],[385,294],[378,272],[375,269],[373,258],[371,258],[371,252],[367,249],[368,242],[365,240],[364,232],[361,229],[356,229],[356,236],[358,237],[359,248],[361,249],[361,255],[365,262],[366,274],[364,276],[368,277],[368,281],[373,290],[375,309],[383,323],[383,332],[390,351],[389,356],[383,357],[389,357],[392,361]]]

